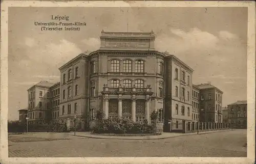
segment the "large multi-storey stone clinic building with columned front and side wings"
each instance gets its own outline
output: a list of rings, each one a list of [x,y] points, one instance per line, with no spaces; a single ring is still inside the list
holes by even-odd
[[[193,69],[188,65],[155,49],[153,32],[102,31],[100,41],[98,50],[79,54],[59,68],[60,83],[41,81],[28,90],[30,121],[69,122],[74,126],[76,118],[84,129],[95,125],[99,109],[105,118],[146,119],[149,123],[155,110],[166,127],[172,122],[172,129],[180,129],[182,120],[200,121],[200,96],[206,89],[192,84]],[[222,94],[215,87],[212,97],[215,92]],[[212,106],[217,103],[212,102]],[[215,121],[213,113],[210,118]]]

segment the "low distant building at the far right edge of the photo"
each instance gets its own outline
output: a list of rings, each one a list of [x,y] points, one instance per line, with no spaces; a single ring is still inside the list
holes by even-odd
[[[228,122],[234,128],[247,128],[247,101],[237,101],[227,105]]]

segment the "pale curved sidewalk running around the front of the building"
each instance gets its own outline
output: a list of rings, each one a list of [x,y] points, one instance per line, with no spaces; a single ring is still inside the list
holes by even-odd
[[[184,135],[200,135],[214,132],[224,132],[231,131],[231,129],[225,130],[214,130],[214,131],[203,131],[195,133],[175,133],[175,132],[163,132],[160,135],[146,135],[146,136],[113,136],[113,135],[99,135],[99,134],[91,134],[91,132],[76,132],[75,136],[83,136],[86,138],[94,138],[94,139],[115,139],[115,140],[156,140],[156,139],[168,139],[175,138],[178,136]],[[74,135],[74,132],[70,132],[69,135]]]

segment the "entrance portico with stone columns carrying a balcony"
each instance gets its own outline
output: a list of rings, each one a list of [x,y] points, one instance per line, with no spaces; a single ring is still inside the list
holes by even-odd
[[[108,85],[104,85],[101,93],[105,118],[127,118],[134,122],[143,119],[150,121],[150,101],[153,94],[151,86],[109,88]]]

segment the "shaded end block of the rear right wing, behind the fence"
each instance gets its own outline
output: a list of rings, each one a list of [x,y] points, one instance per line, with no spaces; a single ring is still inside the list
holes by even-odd
[[[200,89],[200,121],[222,122],[223,92],[211,84],[197,85]]]

